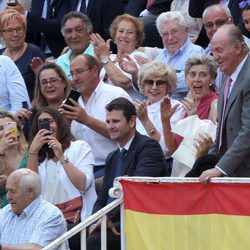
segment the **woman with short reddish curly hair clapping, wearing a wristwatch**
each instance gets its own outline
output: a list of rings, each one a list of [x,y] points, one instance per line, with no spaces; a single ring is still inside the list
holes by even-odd
[[[117,54],[110,55],[109,42],[98,35],[92,34],[95,53],[102,63],[101,79],[125,89],[132,99],[142,99],[132,75],[121,69],[119,63],[123,60],[135,60],[135,56],[146,57],[146,54],[137,50],[144,39],[143,23],[136,17],[128,14],[117,16],[110,26],[110,35],[117,45]],[[139,64],[136,62],[137,68]]]

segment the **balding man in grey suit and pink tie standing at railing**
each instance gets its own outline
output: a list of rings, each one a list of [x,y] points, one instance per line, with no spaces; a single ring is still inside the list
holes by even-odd
[[[250,177],[250,58],[241,31],[223,25],[213,35],[212,51],[226,81],[218,101],[216,141],[210,153],[219,161],[200,175],[207,183],[212,177]]]

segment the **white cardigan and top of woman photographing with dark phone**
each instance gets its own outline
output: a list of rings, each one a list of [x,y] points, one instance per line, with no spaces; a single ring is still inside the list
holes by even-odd
[[[58,161],[53,165],[57,171],[57,178],[67,192],[69,200],[82,195],[83,208],[81,211],[81,220],[87,218],[92,213],[93,205],[96,200],[95,181],[93,174],[94,157],[89,145],[85,141],[77,140],[70,143],[70,146],[64,151],[64,156],[67,156],[69,161],[81,170],[86,175],[86,190],[80,192],[70,181],[64,167]],[[47,169],[52,167],[49,165],[49,160],[45,159],[38,166],[38,172],[42,183],[42,196],[48,197],[45,194],[47,185]],[[51,190],[53,192],[53,190]]]

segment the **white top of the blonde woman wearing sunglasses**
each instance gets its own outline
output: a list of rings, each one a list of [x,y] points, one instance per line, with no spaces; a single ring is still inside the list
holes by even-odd
[[[159,144],[161,145],[161,148],[162,148],[166,158],[169,158],[170,153],[169,153],[168,148],[165,145],[162,122],[161,122],[161,112],[160,112],[161,101],[162,101],[162,99],[156,103],[153,103],[153,104],[147,106],[147,111],[148,111],[149,119],[151,120],[151,122],[154,124],[155,128],[157,129],[157,131],[161,135]],[[171,125],[171,127],[173,127],[178,121],[180,121],[183,118],[185,112],[184,112],[184,109],[182,107],[181,102],[171,98],[170,103],[171,103],[171,107],[174,107],[176,104],[179,104],[179,106],[177,107],[176,111],[174,112],[174,114],[172,115],[172,117],[170,119],[170,125]],[[146,129],[144,128],[144,126],[142,125],[141,121],[138,118],[136,121],[136,130],[139,133],[148,136]]]

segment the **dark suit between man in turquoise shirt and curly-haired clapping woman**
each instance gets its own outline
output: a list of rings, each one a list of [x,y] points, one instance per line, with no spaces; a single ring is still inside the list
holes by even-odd
[[[77,0],[71,0],[71,9],[76,10]],[[87,6],[87,15],[90,18],[93,30],[103,39],[110,38],[109,27],[116,16],[123,13],[121,0],[90,0]]]

